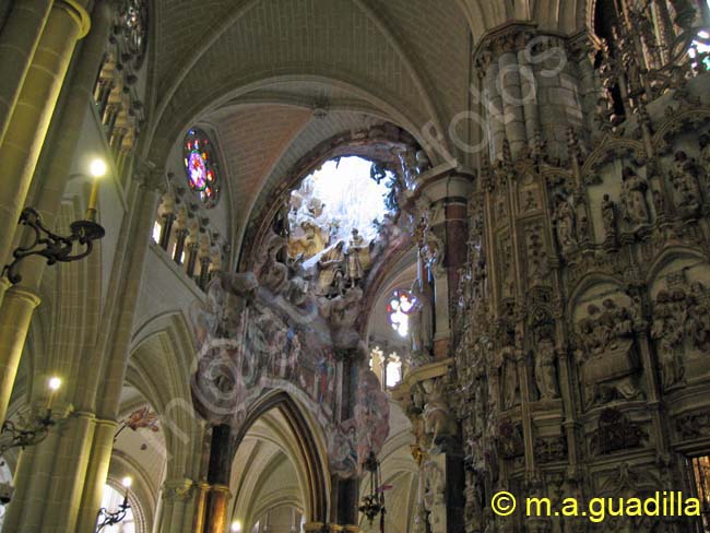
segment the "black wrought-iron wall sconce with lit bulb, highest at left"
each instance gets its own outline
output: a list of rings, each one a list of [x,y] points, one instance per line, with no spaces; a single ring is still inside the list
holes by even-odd
[[[19,246],[12,252],[14,260],[4,266],[3,273],[8,276],[10,283],[14,285],[22,281],[17,266],[20,261],[29,256],[42,256],[47,260],[47,264],[78,261],[92,252],[94,240],[98,240],[106,235],[106,230],[96,222],[98,180],[106,175],[106,163],[103,159],[94,159],[88,166],[88,171],[94,180],[88,196],[86,216],[84,220],[74,221],[69,225],[71,235],[57,235],[49,230],[36,209],[25,208],[22,210],[19,224],[29,227],[34,235],[28,245]],[[79,242],[80,246],[85,248],[78,253],[72,253],[74,242]]]

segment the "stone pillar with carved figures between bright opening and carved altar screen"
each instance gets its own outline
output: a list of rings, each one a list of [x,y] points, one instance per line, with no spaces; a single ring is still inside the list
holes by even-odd
[[[466,261],[470,175],[445,163],[417,178],[421,196],[419,275],[434,281],[434,359],[407,372],[393,392],[410,415],[419,470],[416,532],[448,533],[463,528],[463,453],[460,433],[449,405],[448,375],[452,335],[450,309],[458,301],[460,270]]]

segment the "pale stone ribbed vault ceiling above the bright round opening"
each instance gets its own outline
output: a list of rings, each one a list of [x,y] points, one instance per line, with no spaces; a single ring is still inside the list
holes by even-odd
[[[378,120],[445,130],[469,108],[486,31],[532,20],[572,33],[587,2],[155,0],[149,157],[196,121],[216,123],[244,227],[260,191],[334,134]]]

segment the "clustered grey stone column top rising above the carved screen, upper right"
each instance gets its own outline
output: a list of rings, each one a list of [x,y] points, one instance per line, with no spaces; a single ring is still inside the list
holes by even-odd
[[[570,59],[568,39],[532,24],[509,24],[480,40],[473,61],[483,80],[493,159],[504,157],[504,140],[514,158],[541,141],[566,157],[566,130],[583,123],[580,100],[588,88],[580,79],[589,75]]]

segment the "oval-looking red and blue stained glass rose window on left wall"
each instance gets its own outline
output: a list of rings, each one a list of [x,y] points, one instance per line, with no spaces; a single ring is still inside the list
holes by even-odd
[[[214,206],[220,192],[218,176],[212,142],[204,131],[197,128],[188,131],[182,146],[182,156],[188,186],[200,197],[205,206]]]

